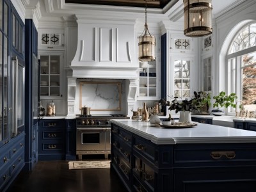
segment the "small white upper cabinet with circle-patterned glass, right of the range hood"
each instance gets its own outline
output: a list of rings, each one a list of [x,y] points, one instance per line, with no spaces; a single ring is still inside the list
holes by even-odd
[[[193,38],[175,33],[170,35],[171,53],[192,53],[193,51]]]

